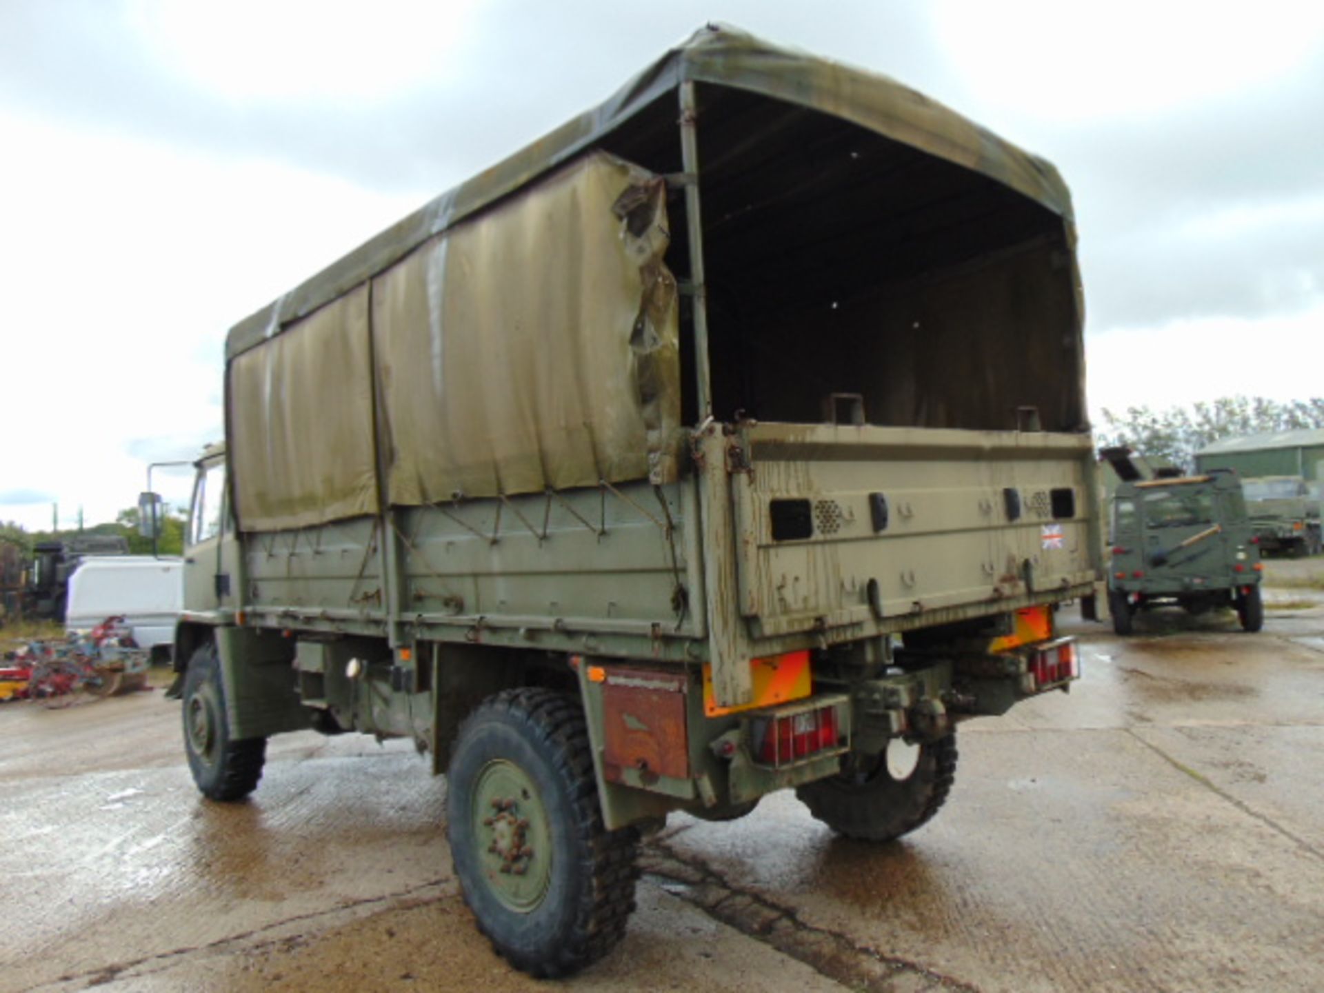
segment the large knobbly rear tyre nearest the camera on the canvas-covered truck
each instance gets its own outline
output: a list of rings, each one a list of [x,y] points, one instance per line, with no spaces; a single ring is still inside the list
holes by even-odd
[[[493,948],[531,976],[568,976],[597,961],[624,937],[634,910],[639,835],[634,828],[602,825],[592,755],[575,698],[519,688],[469,715],[450,759],[446,835],[461,892]],[[547,829],[545,846],[535,846],[519,874],[545,878],[545,890],[523,907],[510,906],[503,887],[516,883],[494,869],[502,855],[493,854],[496,843],[489,838],[496,830],[489,826],[493,810],[479,809],[478,793],[486,796],[493,769],[512,769],[532,786],[514,797],[523,805],[514,813],[520,824],[532,820]],[[494,802],[489,797],[486,806]]]

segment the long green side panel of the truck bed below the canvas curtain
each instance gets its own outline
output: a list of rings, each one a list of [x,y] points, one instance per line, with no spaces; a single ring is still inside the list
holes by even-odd
[[[659,639],[706,634],[686,527],[696,500],[692,483],[604,483],[246,535],[245,609],[267,626],[393,621],[444,641],[499,629],[545,649],[634,636],[617,647],[659,654]]]

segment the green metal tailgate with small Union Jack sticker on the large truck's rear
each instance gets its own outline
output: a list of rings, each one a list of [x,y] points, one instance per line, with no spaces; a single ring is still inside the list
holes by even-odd
[[[1087,434],[761,424],[741,445],[739,609],[755,638],[1094,592]]]

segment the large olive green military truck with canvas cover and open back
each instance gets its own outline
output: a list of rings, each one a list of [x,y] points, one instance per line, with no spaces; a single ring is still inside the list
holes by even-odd
[[[1058,173],[708,28],[240,322],[185,551],[185,751],[412,739],[478,927],[604,955],[641,831],[794,788],[928,821],[1103,594]]]

